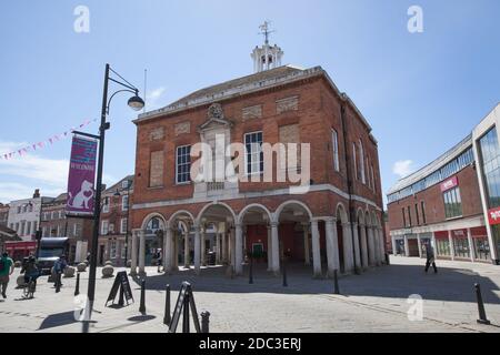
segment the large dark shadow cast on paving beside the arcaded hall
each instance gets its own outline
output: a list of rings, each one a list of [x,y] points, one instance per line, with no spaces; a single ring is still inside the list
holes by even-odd
[[[312,267],[303,264],[287,264],[288,287],[282,284],[282,275],[273,276],[266,271],[266,264],[253,265],[253,284],[249,284],[249,266],[244,265],[243,276],[228,277],[227,266],[210,266],[196,275],[193,270],[180,268],[171,275],[159,274],[147,268],[147,290],[164,291],[170,284],[178,292],[183,281],[191,283],[196,292],[223,293],[277,293],[277,294],[332,294],[333,281],[312,278]],[[323,271],[324,272],[324,271]],[[133,282],[140,290],[141,278]],[[474,283],[481,285],[484,303],[500,304],[493,292],[499,287],[489,278],[470,270],[446,267],[438,264],[438,273],[423,272],[422,265],[384,265],[369,268],[360,275],[339,277],[340,292],[350,296],[400,297],[419,294],[424,300],[476,302]],[[137,295],[139,296],[139,295]]]

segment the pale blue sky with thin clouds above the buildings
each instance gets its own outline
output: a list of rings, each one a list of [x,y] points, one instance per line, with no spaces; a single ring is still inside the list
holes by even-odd
[[[77,33],[77,6],[90,32]],[[410,33],[408,8],[423,10]],[[323,67],[373,128],[382,185],[464,138],[500,101],[497,0],[12,1],[0,13],[0,154],[100,113],[104,63],[143,88],[148,110],[250,74],[264,19],[284,63]],[[111,106],[104,181],[133,172],[134,112]],[[97,133],[92,123],[87,131]],[[0,202],[66,190],[70,140],[0,160]]]

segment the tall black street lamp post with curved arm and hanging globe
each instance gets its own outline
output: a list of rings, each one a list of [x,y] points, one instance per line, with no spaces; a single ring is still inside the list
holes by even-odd
[[[110,77],[110,72],[117,75],[119,79]],[[108,84],[112,81],[126,89],[118,90],[108,100]],[[97,182],[96,182],[96,199],[93,209],[93,233],[92,233],[92,247],[90,254],[90,268],[89,268],[89,287],[88,287],[88,318],[86,325],[88,327],[88,322],[92,315],[93,301],[96,294],[96,271],[97,271],[97,258],[98,258],[98,246],[99,246],[99,224],[100,224],[100,211],[101,211],[101,190],[102,190],[102,165],[104,155],[104,134],[106,130],[109,130],[110,124],[106,122],[106,118],[109,114],[109,105],[113,97],[119,92],[131,92],[133,97],[129,99],[128,104],[132,110],[139,111],[144,106],[144,101],[139,98],[139,89],[133,87],[130,82],[123,79],[119,73],[106,64],[104,72],[104,88],[102,93],[102,109],[101,109],[101,124],[99,128],[99,155],[98,155],[98,170],[97,170]]]

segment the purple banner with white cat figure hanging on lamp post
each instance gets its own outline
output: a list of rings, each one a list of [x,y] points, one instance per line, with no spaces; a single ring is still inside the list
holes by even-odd
[[[93,214],[97,143],[92,139],[73,136],[66,204],[68,214]]]

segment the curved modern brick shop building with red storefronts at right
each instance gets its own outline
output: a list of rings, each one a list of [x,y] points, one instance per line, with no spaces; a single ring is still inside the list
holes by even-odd
[[[472,135],[388,193],[393,254],[490,262]]]

